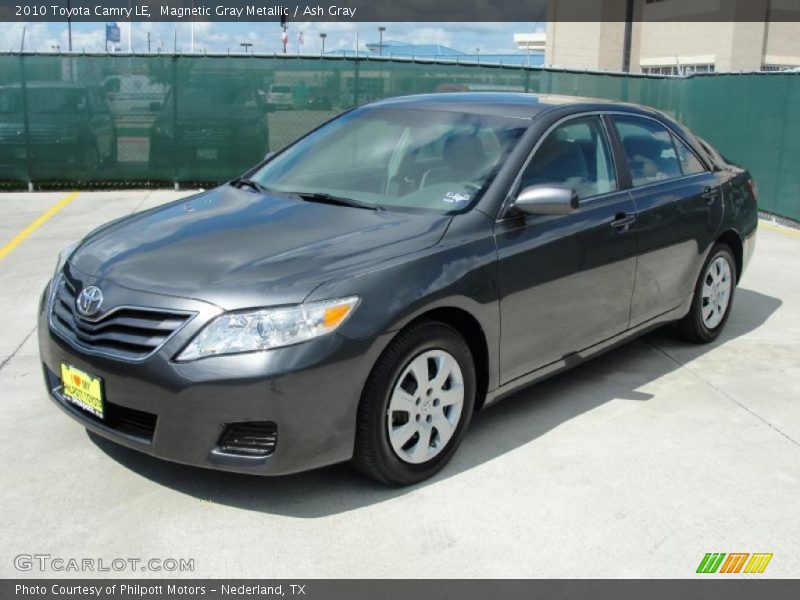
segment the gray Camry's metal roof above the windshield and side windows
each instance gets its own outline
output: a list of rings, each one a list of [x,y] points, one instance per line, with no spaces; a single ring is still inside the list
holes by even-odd
[[[556,107],[564,108],[567,112],[610,109],[632,113],[655,112],[635,104],[598,98],[523,92],[442,92],[388,98],[368,106],[467,112],[521,119],[531,119]],[[573,110],[570,111],[570,108]]]

